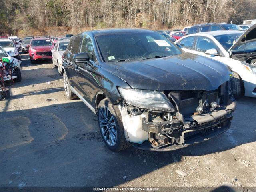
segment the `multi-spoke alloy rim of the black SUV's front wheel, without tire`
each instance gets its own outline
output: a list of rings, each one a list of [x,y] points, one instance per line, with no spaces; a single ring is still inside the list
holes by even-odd
[[[116,122],[107,106],[100,107],[98,118],[104,140],[108,145],[114,146],[117,140]]]

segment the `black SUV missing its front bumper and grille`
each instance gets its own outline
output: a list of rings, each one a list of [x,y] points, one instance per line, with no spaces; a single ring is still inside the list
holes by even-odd
[[[236,102],[230,69],[160,34],[110,29],[74,36],[63,55],[64,88],[98,116],[113,151],[168,151],[230,128]]]

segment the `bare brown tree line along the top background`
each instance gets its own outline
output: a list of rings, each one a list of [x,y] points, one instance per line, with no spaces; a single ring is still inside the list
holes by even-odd
[[[0,0],[0,33],[46,27],[174,28],[256,18],[256,0]]]

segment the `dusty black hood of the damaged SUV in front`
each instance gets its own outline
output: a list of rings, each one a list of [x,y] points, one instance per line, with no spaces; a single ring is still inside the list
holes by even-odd
[[[146,90],[215,90],[229,80],[230,70],[218,61],[190,53],[134,62],[108,62],[104,70],[132,88]]]

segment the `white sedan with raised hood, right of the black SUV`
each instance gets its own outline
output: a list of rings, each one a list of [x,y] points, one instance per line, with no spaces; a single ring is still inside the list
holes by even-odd
[[[246,32],[210,31],[175,42],[185,52],[206,56],[228,65],[233,71],[232,92],[236,98],[256,97],[256,24]]]

